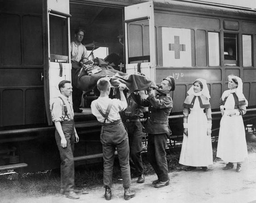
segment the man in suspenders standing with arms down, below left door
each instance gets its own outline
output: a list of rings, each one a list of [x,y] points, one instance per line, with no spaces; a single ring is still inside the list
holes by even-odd
[[[60,165],[60,193],[67,198],[79,199],[74,192],[75,168],[74,168],[74,143],[79,141],[74,126],[74,111],[72,101],[69,97],[72,94],[71,82],[63,80],[59,82],[60,97],[52,104],[51,117],[55,124],[55,140],[59,148],[61,159]]]

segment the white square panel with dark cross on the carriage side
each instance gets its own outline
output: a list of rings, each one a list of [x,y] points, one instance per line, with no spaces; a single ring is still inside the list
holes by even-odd
[[[162,27],[162,53],[165,67],[191,67],[191,30]]]

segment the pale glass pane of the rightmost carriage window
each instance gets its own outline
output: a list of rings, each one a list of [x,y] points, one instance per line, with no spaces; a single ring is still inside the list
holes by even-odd
[[[243,66],[252,66],[252,35],[243,35]]]

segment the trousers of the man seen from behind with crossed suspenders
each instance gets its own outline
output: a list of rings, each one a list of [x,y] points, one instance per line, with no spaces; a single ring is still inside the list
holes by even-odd
[[[118,152],[118,160],[121,167],[123,187],[130,187],[130,164],[129,164],[129,141],[126,129],[122,122],[114,125],[103,126],[101,129],[100,141],[103,151],[103,183],[104,187],[111,187],[114,152]]]

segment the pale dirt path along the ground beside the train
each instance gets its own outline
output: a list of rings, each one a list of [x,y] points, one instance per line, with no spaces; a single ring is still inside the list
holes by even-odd
[[[111,202],[129,203],[249,203],[256,202],[256,153],[249,154],[249,160],[242,165],[242,171],[235,169],[221,170],[223,161],[215,162],[208,172],[200,169],[192,172],[171,172],[170,184],[163,188],[154,188],[151,182],[156,176],[146,176],[145,183],[138,184],[132,180],[132,189],[136,196],[129,201],[123,199],[122,184],[112,188]],[[235,167],[236,168],[236,165]],[[72,203],[108,202],[104,199],[102,187],[91,188],[88,194],[82,194],[80,199],[71,200],[63,195],[51,195],[40,198],[15,197],[0,199],[4,203]]]

